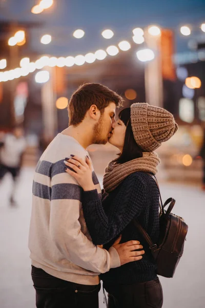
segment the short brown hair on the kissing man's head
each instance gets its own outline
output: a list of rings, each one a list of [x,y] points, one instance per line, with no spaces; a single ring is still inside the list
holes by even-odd
[[[96,105],[103,114],[104,109],[112,102],[117,107],[122,105],[122,98],[108,87],[98,83],[81,85],[73,94],[68,105],[69,125],[78,125],[92,105]]]

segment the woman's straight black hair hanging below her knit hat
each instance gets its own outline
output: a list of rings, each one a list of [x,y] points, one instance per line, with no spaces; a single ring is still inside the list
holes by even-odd
[[[125,141],[122,148],[122,152],[119,153],[119,157],[115,160],[117,163],[123,164],[129,162],[135,158],[142,157],[143,150],[137,145],[131,125],[130,108],[122,109],[119,112],[119,119],[127,126],[125,132]]]

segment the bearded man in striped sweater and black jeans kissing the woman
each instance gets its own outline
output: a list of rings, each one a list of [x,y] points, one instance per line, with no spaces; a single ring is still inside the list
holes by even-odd
[[[138,241],[106,251],[90,238],[81,207],[81,187],[64,161],[89,158],[87,147],[106,144],[121,97],[100,84],[84,84],[72,95],[69,127],[58,133],[36,166],[29,233],[37,308],[98,307],[99,273],[141,259]],[[80,166],[79,166],[80,167]],[[93,183],[101,194],[93,170]]]

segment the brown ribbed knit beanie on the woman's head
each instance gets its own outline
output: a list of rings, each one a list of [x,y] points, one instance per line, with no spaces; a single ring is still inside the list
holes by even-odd
[[[131,105],[131,125],[136,143],[147,152],[156,150],[178,129],[172,113],[147,103]]]

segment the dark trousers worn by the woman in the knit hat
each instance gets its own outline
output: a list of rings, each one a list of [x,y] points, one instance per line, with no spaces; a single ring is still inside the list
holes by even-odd
[[[163,294],[159,279],[135,284],[104,283],[109,308],[161,308]]]

